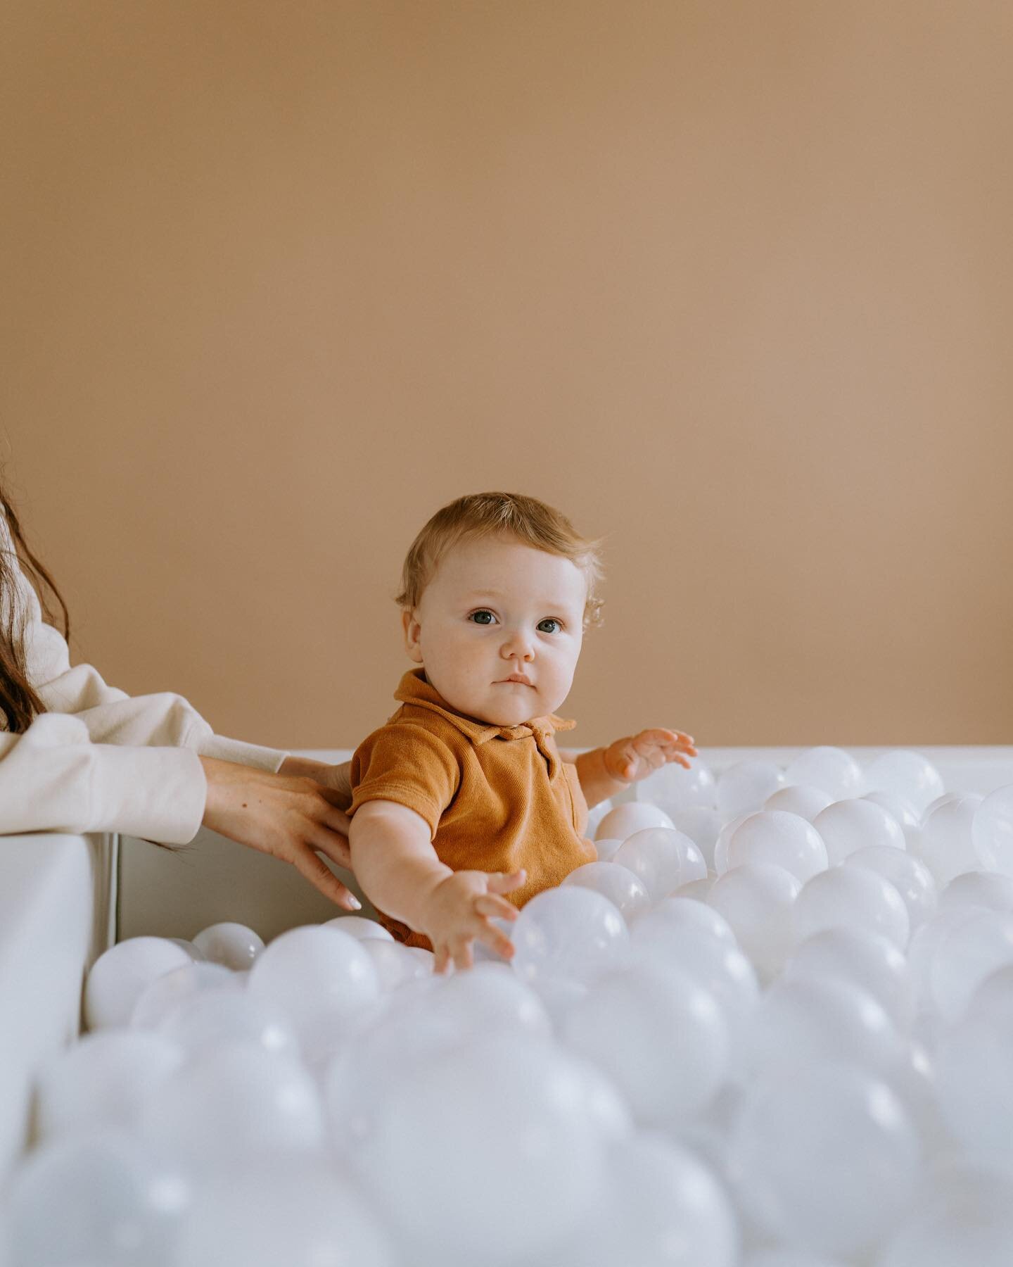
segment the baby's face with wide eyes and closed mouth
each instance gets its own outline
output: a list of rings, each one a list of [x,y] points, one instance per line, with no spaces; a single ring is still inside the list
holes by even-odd
[[[457,712],[518,726],[555,712],[570,693],[586,597],[584,573],[569,559],[509,536],[466,540],[404,613],[408,654]]]

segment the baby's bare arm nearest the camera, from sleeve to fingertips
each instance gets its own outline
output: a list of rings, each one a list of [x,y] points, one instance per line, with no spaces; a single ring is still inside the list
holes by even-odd
[[[500,895],[524,883],[524,873],[455,872],[437,858],[429,825],[395,801],[366,801],[352,817],[352,869],[375,906],[433,944],[436,971],[472,964],[477,939],[505,959],[509,938],[490,921],[515,920],[517,907]]]

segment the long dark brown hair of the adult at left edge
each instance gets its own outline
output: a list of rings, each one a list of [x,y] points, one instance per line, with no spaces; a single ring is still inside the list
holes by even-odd
[[[47,595],[56,599],[62,613],[63,636],[70,637],[71,622],[67,604],[56,588],[56,582],[28,549],[24,532],[10,498],[0,484],[0,512],[6,516],[14,549],[0,549],[0,712],[6,718],[6,729],[22,735],[32,725],[32,718],[46,712],[46,706],[28,680],[24,647],[25,612],[15,601],[15,584],[20,569],[29,578],[39,595],[43,613],[56,623]]]

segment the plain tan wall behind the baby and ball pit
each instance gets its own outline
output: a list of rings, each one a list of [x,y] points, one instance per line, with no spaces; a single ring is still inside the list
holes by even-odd
[[[607,537],[575,741],[1013,737],[1008,0],[3,22],[8,478],[110,680],[353,745],[508,488]]]

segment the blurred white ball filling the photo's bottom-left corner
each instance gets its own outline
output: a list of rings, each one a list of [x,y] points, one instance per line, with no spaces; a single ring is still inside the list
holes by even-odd
[[[181,1175],[135,1139],[57,1140],[10,1183],[10,1267],[175,1267],[189,1199]]]

